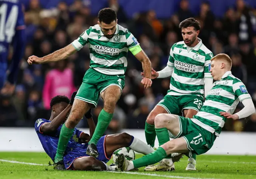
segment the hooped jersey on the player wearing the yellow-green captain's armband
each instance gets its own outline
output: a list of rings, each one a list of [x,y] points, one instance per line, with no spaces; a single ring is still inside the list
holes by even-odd
[[[113,38],[106,38],[97,24],[72,42],[76,50],[80,50],[86,44],[90,49],[90,67],[107,75],[124,74],[127,68],[128,50],[139,45],[136,38],[118,24]]]

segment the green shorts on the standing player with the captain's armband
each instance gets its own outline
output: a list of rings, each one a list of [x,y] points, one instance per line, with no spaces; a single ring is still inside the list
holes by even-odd
[[[112,85],[118,86],[122,91],[124,75],[106,75],[89,68],[84,75],[75,99],[86,101],[96,107],[100,94]]]

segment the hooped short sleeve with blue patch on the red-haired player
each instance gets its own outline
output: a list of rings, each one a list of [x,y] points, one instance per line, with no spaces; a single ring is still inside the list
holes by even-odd
[[[233,91],[235,95],[239,98],[240,102],[242,102],[244,99],[251,98],[251,95],[248,93],[245,85],[240,80],[234,80],[233,82]]]

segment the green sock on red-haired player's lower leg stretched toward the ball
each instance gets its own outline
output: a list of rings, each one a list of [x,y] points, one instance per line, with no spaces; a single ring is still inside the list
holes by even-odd
[[[164,159],[166,157],[166,151],[162,147],[158,147],[156,151],[145,155],[133,162],[134,168],[146,167],[152,165]]]

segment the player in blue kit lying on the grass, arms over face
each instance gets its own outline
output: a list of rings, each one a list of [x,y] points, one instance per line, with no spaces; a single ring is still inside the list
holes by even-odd
[[[50,119],[38,119],[35,122],[35,129],[40,142],[45,152],[53,161],[56,155],[62,123],[64,123],[70,112],[75,94],[74,92],[71,100],[66,96],[59,95],[53,97],[50,103],[52,109]],[[85,116],[90,127],[90,135],[92,135],[95,130],[95,124],[90,111]],[[115,170],[117,169],[115,165],[108,166],[106,163],[110,160],[112,153],[119,148],[130,147],[134,151],[145,155],[154,151],[152,147],[132,135],[121,133],[102,136],[96,145],[99,156],[94,158],[86,155],[90,135],[75,128],[64,153],[64,163],[55,165],[56,169]]]

